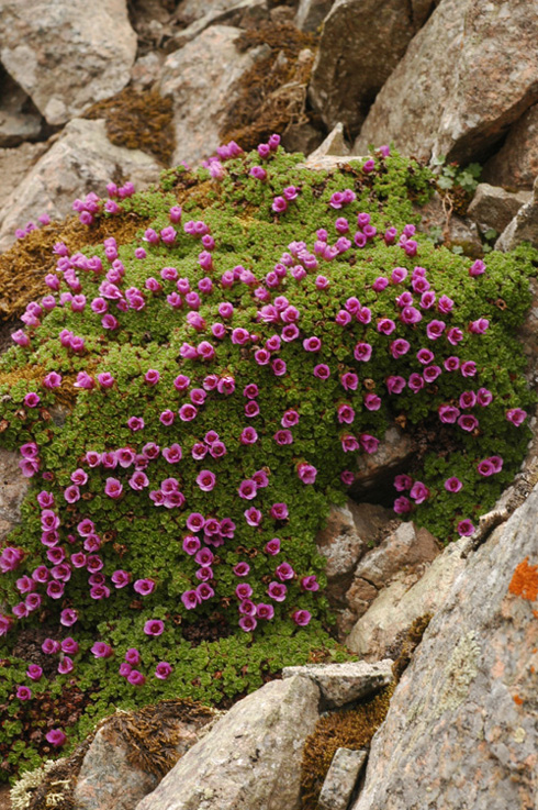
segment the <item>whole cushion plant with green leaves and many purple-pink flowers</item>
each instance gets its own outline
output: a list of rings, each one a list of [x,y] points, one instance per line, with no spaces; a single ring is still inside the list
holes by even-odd
[[[314,537],[395,420],[434,436],[395,511],[444,541],[524,456],[528,251],[435,247],[413,212],[433,176],[386,148],[330,171],[301,157],[232,143],[74,206],[89,246],[55,245],[0,360],[1,442],[32,479],[0,555],[7,775],[116,706],[222,703],[314,650],[346,656]],[[12,653],[32,629],[41,663]]]

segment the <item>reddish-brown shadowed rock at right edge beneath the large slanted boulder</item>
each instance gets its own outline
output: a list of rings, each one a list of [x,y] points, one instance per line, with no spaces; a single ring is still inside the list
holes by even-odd
[[[495,186],[531,189],[538,176],[538,104],[512,124],[506,141],[487,160],[482,177]]]

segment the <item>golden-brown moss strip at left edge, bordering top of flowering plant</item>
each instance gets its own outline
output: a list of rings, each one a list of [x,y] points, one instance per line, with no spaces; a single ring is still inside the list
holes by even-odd
[[[107,236],[114,236],[123,245],[132,242],[146,223],[135,213],[98,218],[90,226],[82,225],[78,217],[68,217],[32,231],[0,256],[0,319],[20,315],[30,301],[49,292],[44,278],[56,267],[56,242],[64,242],[71,253]]]

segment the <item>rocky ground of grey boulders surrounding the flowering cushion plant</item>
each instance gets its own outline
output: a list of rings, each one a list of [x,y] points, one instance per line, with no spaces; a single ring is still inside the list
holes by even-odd
[[[111,179],[141,188],[180,160],[201,163],[223,138],[247,148],[273,131],[310,166],[383,143],[434,160],[444,182],[421,211],[422,228],[457,252],[538,246],[536,0],[38,5],[37,15],[32,3],[0,0],[2,249]],[[447,173],[452,160],[480,163],[483,181]],[[0,279],[7,289],[1,260]],[[537,295],[522,332],[530,385]],[[21,301],[0,290],[4,333],[20,312]],[[77,810],[293,810],[301,784],[302,806],[315,807],[304,785],[317,779],[320,792],[326,768],[309,776],[306,753],[328,717],[352,733],[341,732],[322,810],[538,807],[534,432],[496,512],[475,537],[445,550],[378,504],[334,508],[317,537],[328,597],[339,639],[367,664],[284,673],[222,718],[169,713],[179,761],[160,770],[155,752],[142,765],[130,761],[139,718],[130,731],[103,726],[41,794],[21,788],[14,810],[53,807],[47,796],[60,780],[60,807]],[[408,452],[389,436],[366,484]],[[26,485],[3,451],[0,480],[3,537]],[[386,706],[371,710],[361,735],[376,696]],[[9,806],[0,789],[0,810]]]

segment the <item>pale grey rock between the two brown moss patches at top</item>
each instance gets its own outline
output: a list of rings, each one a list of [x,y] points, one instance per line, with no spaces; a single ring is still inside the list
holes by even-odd
[[[268,54],[267,46],[239,54],[234,45],[239,34],[236,27],[212,25],[167,57],[160,93],[173,100],[175,163],[194,164],[215,152],[226,111],[236,99],[234,86]]]

